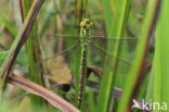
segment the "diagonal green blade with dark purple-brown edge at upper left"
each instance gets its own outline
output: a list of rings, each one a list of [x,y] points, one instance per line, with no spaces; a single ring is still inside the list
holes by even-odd
[[[27,36],[31,29],[31,25],[34,24],[34,21],[40,10],[41,4],[43,3],[43,0],[36,0],[32,3],[32,7],[30,8],[30,11],[25,20],[24,26],[20,29],[10,51],[6,55],[4,62],[2,63],[2,67],[0,70],[1,75],[1,87],[4,88],[5,86],[5,79],[9,75],[12,65],[16,59],[17,53],[20,52],[22,46],[24,45],[25,40],[27,39]],[[38,4],[38,5],[37,5]]]

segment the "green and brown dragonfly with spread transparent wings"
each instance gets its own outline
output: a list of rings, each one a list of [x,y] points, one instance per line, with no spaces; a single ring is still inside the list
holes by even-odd
[[[47,71],[54,71],[63,69],[62,72],[57,72],[56,74],[65,73],[69,74],[70,72],[67,71],[67,63],[69,63],[73,67],[74,63],[76,62],[77,58],[75,57],[77,53],[80,52],[80,78],[79,78],[79,94],[78,94],[78,102],[79,105],[81,104],[82,96],[84,96],[84,87],[86,87],[86,80],[87,80],[87,73],[88,73],[88,63],[94,64],[95,66],[102,66],[105,64],[105,58],[108,55],[113,58],[113,60],[116,60],[118,65],[120,66],[117,70],[120,73],[125,73],[130,67],[130,62],[123,60],[120,57],[115,57],[113,53],[108,52],[106,50],[107,42],[112,41],[112,43],[116,43],[116,38],[108,39],[105,36],[92,36],[91,29],[93,28],[93,22],[90,18],[84,18],[80,23],[80,35],[52,35],[47,33],[39,33],[37,34],[40,36],[41,39],[41,48],[43,51],[43,63]],[[123,46],[129,46],[127,49],[128,52],[133,54],[134,48],[136,45],[138,39],[134,37],[127,37],[118,39],[120,43]],[[57,41],[57,42],[56,42]],[[64,42],[63,42],[64,41]],[[53,48],[53,49],[51,49]],[[123,47],[126,48],[126,47]],[[114,50],[114,49],[113,49]],[[69,54],[74,57],[69,57]],[[63,59],[61,55],[64,55],[65,59]],[[66,59],[67,58],[67,59]],[[57,59],[57,62],[56,62]],[[73,60],[75,62],[73,62]],[[63,64],[64,61],[67,61],[67,63]],[[61,62],[61,63],[60,63]],[[57,63],[57,65],[55,65]],[[63,65],[62,65],[63,64]],[[66,66],[66,67],[65,67]],[[63,78],[63,76],[61,76]],[[61,78],[60,77],[60,78]],[[67,78],[67,82],[69,80],[70,76],[64,77],[64,79]],[[62,83],[64,83],[64,79]]]

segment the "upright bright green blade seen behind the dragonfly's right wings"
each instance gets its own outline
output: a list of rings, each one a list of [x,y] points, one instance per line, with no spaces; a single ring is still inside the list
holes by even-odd
[[[117,37],[118,39],[125,34],[126,20],[129,11],[130,1],[113,1],[115,8],[110,7],[109,0],[104,0],[104,14],[105,14],[105,24],[106,32],[108,37]],[[113,9],[115,11],[113,11]],[[120,15],[120,16],[119,16]],[[113,52],[114,55],[117,55],[119,51],[120,41],[116,42],[115,51],[113,50],[113,43],[108,42],[108,52]],[[116,62],[113,61],[113,58],[107,58],[107,63],[104,66],[104,75],[101,83],[101,90],[99,96],[99,112],[107,112],[109,109],[109,102],[112,98],[112,91],[114,86],[115,72],[112,72],[113,66]]]

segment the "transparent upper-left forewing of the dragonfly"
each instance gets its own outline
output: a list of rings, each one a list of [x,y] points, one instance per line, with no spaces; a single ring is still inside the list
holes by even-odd
[[[80,42],[79,37],[75,35],[52,35],[40,33],[36,36],[40,39],[40,46],[43,51],[44,59],[49,58],[49,55],[54,55],[68,50],[69,48],[73,48],[74,45]]]

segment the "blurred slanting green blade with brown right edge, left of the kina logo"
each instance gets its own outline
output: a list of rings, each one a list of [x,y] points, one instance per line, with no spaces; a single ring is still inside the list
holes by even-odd
[[[118,112],[127,111],[127,107],[129,101],[131,101],[132,89],[134,88],[134,84],[136,83],[139,75],[143,69],[143,62],[145,59],[147,41],[150,35],[152,33],[153,26],[155,25],[156,14],[158,14],[157,7],[159,7],[160,0],[152,0],[148,1],[147,11],[145,15],[145,21],[142,26],[142,30],[140,34],[140,41],[136,47],[135,58],[132,63],[131,71],[126,82],[125,91],[122,99],[120,100],[120,104],[118,107]],[[128,109],[131,110],[131,109]]]

